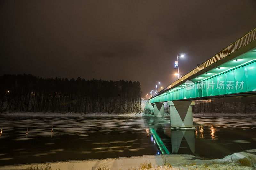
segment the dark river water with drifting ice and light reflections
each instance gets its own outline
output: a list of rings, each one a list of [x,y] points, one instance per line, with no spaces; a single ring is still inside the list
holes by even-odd
[[[253,116],[195,117],[196,129],[178,131],[167,119],[1,116],[0,165],[175,153],[223,158],[256,148]]]

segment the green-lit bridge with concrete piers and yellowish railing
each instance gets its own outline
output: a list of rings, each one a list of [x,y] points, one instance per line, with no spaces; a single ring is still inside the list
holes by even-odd
[[[171,128],[193,128],[193,100],[256,96],[256,28],[148,99],[154,116],[170,105]]]

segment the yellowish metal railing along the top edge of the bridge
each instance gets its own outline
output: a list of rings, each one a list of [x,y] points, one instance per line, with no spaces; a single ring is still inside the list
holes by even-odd
[[[159,94],[161,94],[163,91],[172,88],[173,86],[177,85],[178,83],[180,83],[181,81],[186,80],[188,77],[192,76],[193,74],[196,74],[197,72],[203,70],[204,68],[212,65],[213,63],[215,63],[216,61],[226,57],[227,55],[233,53],[234,51],[238,50],[239,48],[245,46],[246,44],[249,44],[250,42],[252,42],[253,40],[256,39],[256,28],[251,30],[250,32],[248,32],[247,34],[245,34],[243,37],[241,37],[240,39],[236,40],[234,43],[230,44],[228,47],[224,48],[222,51],[220,51],[219,53],[215,54],[213,57],[211,57],[210,59],[206,60],[203,64],[197,66],[195,69],[193,69],[192,71],[188,72],[188,74],[184,75],[183,77],[181,77],[180,79],[178,79],[177,81],[174,81],[172,84],[170,84],[169,86],[167,86],[166,88],[164,88],[163,90],[159,91],[157,94],[155,94],[153,97],[158,96]],[[151,99],[150,98],[150,99]]]

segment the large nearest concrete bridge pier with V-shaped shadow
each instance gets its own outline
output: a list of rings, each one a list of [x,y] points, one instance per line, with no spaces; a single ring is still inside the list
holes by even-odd
[[[195,102],[191,101],[168,101],[170,105],[171,128],[191,129],[193,128],[192,106]]]

